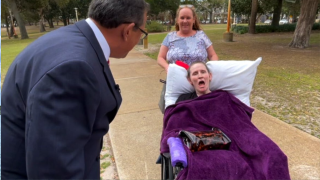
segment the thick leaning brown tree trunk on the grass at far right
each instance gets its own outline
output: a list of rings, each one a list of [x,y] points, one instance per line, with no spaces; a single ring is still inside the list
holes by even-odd
[[[315,21],[319,1],[301,0],[300,16],[289,47],[306,48]]]

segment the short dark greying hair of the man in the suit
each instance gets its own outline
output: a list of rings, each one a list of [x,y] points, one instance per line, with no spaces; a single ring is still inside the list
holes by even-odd
[[[92,0],[88,16],[105,28],[116,28],[123,23],[143,24],[149,4],[144,0]]]

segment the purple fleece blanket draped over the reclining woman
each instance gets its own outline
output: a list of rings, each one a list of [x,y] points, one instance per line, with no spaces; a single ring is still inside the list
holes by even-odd
[[[161,153],[180,130],[220,128],[231,139],[229,150],[191,152],[178,179],[290,179],[287,156],[252,123],[253,109],[232,94],[217,90],[169,106],[165,111]]]

